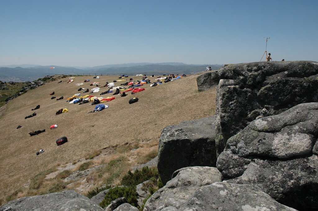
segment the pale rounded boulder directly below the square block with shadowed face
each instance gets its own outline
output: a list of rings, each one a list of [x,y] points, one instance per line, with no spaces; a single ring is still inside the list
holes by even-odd
[[[147,200],[144,211],[180,208],[200,187],[221,181],[215,167],[186,167],[174,172],[172,177]]]

